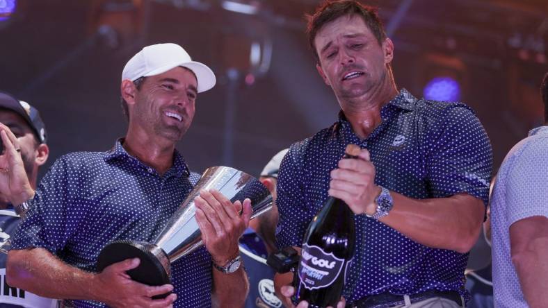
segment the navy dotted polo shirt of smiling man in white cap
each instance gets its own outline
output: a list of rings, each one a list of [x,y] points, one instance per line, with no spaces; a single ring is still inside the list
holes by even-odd
[[[131,157],[120,141],[105,153],[58,159],[36,190],[13,249],[45,248],[67,264],[95,271],[99,252],[118,239],[152,242],[200,176],[175,152],[163,176]],[[199,248],[172,264],[175,307],[211,307],[211,255]],[[69,307],[104,307],[65,300]]]

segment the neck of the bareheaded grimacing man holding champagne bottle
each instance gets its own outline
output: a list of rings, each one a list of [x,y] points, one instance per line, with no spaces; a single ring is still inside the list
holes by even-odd
[[[371,89],[362,96],[339,99],[339,104],[355,134],[360,139],[366,139],[382,122],[380,117],[382,106],[394,99],[396,95],[398,95],[398,89],[392,81]]]

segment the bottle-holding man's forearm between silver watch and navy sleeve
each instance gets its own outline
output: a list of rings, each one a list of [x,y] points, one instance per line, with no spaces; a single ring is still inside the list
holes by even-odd
[[[417,243],[467,253],[478,239],[485,206],[478,198],[414,199],[391,191],[394,207],[382,223]]]

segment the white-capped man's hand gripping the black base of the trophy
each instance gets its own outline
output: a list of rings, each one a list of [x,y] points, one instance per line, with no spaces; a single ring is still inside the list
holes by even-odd
[[[110,307],[173,307],[177,300],[175,293],[161,300],[153,300],[153,296],[169,293],[173,290],[171,284],[162,286],[147,286],[131,280],[127,271],[139,266],[138,258],[125,259],[107,266],[95,276],[95,293],[97,300]]]

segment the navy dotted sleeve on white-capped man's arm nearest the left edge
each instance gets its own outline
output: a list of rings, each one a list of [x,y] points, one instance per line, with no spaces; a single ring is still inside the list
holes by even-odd
[[[58,254],[65,247],[82,216],[76,206],[76,194],[81,189],[74,180],[79,173],[73,169],[67,157],[59,158],[51,166],[17,227],[13,249],[45,248]]]

